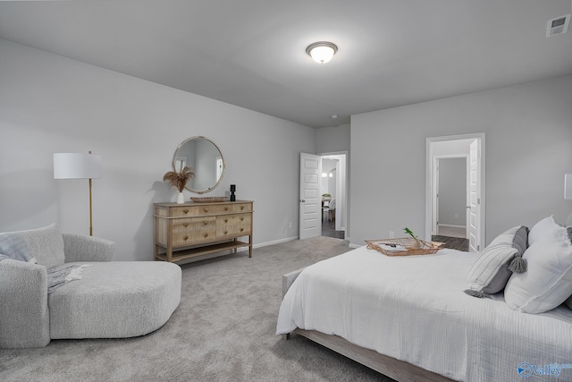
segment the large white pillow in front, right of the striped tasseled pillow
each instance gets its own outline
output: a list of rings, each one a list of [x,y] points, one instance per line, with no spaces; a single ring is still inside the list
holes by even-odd
[[[543,313],[572,294],[572,243],[568,239],[534,242],[523,259],[526,272],[513,273],[504,290],[510,309]]]

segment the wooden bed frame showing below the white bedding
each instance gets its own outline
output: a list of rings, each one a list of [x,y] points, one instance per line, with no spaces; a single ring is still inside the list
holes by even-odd
[[[296,280],[303,269],[282,275],[282,297],[286,294],[290,285]],[[324,333],[315,330],[294,329],[292,332],[302,335],[307,339],[321,344],[334,352],[348,357],[350,360],[357,361],[362,365],[374,369],[382,373],[384,376],[393,378],[399,382],[451,382],[451,379],[445,378],[440,374],[419,368],[405,361],[400,361],[387,355],[380,354],[373,350],[351,344],[349,341],[338,335],[324,335]],[[290,339],[290,334],[284,335],[285,339]]]

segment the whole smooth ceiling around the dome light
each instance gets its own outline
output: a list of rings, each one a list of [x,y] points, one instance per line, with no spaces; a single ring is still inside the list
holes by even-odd
[[[0,38],[313,127],[572,74],[570,0],[0,2]],[[339,47],[315,64],[307,45]],[[333,120],[331,115],[339,115]]]

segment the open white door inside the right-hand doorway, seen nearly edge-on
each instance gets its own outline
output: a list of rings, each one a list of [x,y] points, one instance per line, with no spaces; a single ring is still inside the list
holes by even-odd
[[[481,141],[473,140],[469,146],[469,204],[468,212],[468,250],[476,252],[481,250],[479,243],[481,226]]]

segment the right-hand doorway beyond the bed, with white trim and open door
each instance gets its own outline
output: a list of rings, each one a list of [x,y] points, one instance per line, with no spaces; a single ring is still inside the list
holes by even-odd
[[[427,139],[425,237],[484,248],[484,133]]]

